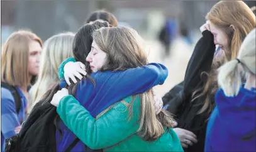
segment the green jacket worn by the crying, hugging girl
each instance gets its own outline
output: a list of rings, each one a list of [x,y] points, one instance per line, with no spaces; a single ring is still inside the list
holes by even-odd
[[[132,102],[126,97],[109,107],[109,111],[99,117],[91,114],[72,96],[60,100],[57,112],[65,125],[91,149],[104,151],[183,151],[177,134],[172,129],[166,131],[153,142],[143,141],[136,135],[139,128],[140,99]],[[127,105],[132,104],[133,115],[129,119]]]

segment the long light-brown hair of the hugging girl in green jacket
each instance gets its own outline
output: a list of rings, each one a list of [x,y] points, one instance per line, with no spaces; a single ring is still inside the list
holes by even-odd
[[[106,52],[106,61],[100,69],[101,71],[127,70],[147,65],[148,63],[142,38],[131,28],[101,28],[94,31],[93,39],[99,48]],[[145,141],[154,141],[164,133],[164,128],[172,126],[172,117],[164,110],[155,116],[152,89],[138,96],[140,97],[138,136]],[[133,99],[135,99],[135,95],[133,95]],[[133,101],[128,105],[128,109],[130,109],[131,117]]]

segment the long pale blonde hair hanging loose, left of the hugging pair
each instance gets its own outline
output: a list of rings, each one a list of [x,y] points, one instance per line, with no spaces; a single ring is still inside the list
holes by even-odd
[[[58,66],[66,58],[73,57],[72,43],[74,33],[60,33],[48,38],[43,43],[43,52],[40,60],[38,80],[30,89],[30,109],[38,102],[50,86],[59,82]]]

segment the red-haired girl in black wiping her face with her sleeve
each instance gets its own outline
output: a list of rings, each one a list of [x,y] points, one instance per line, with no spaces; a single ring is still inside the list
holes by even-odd
[[[200,28],[203,37],[187,65],[183,89],[167,103],[178,119],[174,131],[185,151],[204,151],[206,125],[218,90],[217,69],[237,57],[245,36],[255,28],[255,14],[243,1],[220,1],[206,20]]]

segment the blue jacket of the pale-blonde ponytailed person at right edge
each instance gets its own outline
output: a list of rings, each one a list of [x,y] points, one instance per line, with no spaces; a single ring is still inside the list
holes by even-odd
[[[256,150],[256,94],[243,87],[235,97],[220,89],[206,131],[204,151]]]

